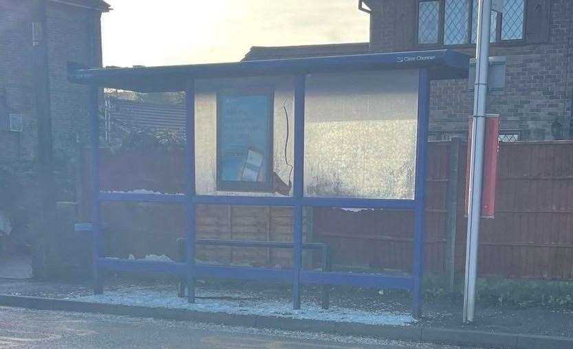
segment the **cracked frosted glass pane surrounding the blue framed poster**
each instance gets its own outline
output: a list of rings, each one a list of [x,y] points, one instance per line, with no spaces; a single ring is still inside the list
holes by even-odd
[[[281,196],[272,192],[230,192],[217,190],[217,92],[271,89],[274,91],[272,124],[272,170],[288,183],[291,168],[285,162],[286,115],[290,136],[287,146],[288,164],[294,164],[293,78],[228,78],[204,79],[195,82],[195,187],[202,195]],[[292,189],[290,190],[292,195]]]

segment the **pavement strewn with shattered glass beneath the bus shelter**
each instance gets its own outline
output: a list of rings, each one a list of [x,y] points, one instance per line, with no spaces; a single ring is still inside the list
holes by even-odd
[[[367,292],[360,293],[359,290],[354,290],[352,297],[348,293],[334,293],[332,307],[328,311],[319,309],[313,311],[312,303],[317,303],[318,300],[312,297],[316,298],[319,291],[308,289],[307,295],[310,297],[305,297],[303,309],[292,311],[288,307],[288,289],[284,288],[272,289],[265,286],[258,291],[253,291],[248,284],[235,286],[204,284],[199,287],[199,294],[230,295],[233,296],[233,300],[221,301],[209,297],[210,299],[200,300],[190,305],[184,299],[177,298],[176,288],[169,282],[158,283],[154,280],[147,286],[142,285],[141,282],[138,285],[129,286],[125,284],[125,280],[118,280],[116,283],[109,281],[106,283],[103,295],[94,296],[88,284],[0,280],[0,306],[29,308],[37,311],[76,312],[84,313],[85,316],[89,316],[88,313],[94,316],[124,315],[139,318],[141,322],[155,320],[201,322],[214,324],[206,325],[208,328],[240,326],[252,328],[255,331],[277,330],[279,334],[283,331],[301,334],[321,333],[320,339],[342,336],[341,338],[369,337],[372,340],[392,339],[405,343],[435,343],[484,348],[573,348],[573,338],[570,337],[573,326],[573,321],[570,320],[573,320],[573,314],[563,310],[539,309],[534,312],[523,312],[487,308],[485,309],[487,313],[482,311],[479,314],[481,322],[460,326],[461,320],[457,319],[456,313],[448,311],[448,304],[426,304],[424,309],[430,309],[424,310],[422,319],[405,324],[405,326],[396,326],[396,324],[385,322],[389,318],[367,317],[362,319],[367,320],[366,322],[360,322],[356,321],[358,318],[348,317],[349,312],[346,310],[340,312],[341,309],[365,314],[401,311],[404,304],[407,304],[399,298],[388,297],[387,294],[383,295],[384,298],[377,299],[375,295]],[[150,290],[158,294],[148,298],[144,292]],[[259,308],[265,304],[274,304],[272,302],[279,304],[279,306],[271,307],[274,312],[269,313],[264,308]],[[311,316],[307,316],[309,310]],[[317,314],[320,316],[315,316]],[[333,318],[333,314],[342,315],[340,318]],[[488,318],[484,315],[488,315]],[[385,321],[380,322],[380,319]],[[527,323],[532,323],[534,326],[525,326]],[[523,329],[525,331],[522,331]],[[295,338],[299,339],[303,336]],[[247,348],[266,348],[268,344],[263,342],[246,345],[251,345]],[[281,344],[272,344],[270,348],[290,348],[288,345],[290,344],[281,342]],[[299,347],[297,344],[293,348]],[[205,345],[202,344],[199,348],[205,348]],[[224,346],[224,348],[232,347]],[[444,346],[429,348],[444,348]]]

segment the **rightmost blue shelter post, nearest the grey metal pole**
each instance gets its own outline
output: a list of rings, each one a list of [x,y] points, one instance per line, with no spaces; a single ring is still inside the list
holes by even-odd
[[[412,314],[422,314],[422,278],[424,266],[424,196],[426,188],[426,148],[428,142],[428,122],[430,104],[430,78],[427,69],[420,69],[418,89],[418,143],[416,144],[416,175],[414,205],[414,245],[413,245],[413,301]]]

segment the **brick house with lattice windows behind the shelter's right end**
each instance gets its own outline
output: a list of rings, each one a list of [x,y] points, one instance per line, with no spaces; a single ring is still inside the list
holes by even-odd
[[[252,47],[244,59],[443,48],[475,54],[477,0],[358,2],[370,16],[369,43]],[[501,115],[500,139],[573,138],[573,1],[504,0],[504,14],[492,17],[490,56],[506,62],[506,85],[490,92],[488,105]],[[466,137],[471,85],[468,79],[432,82],[431,140]]]

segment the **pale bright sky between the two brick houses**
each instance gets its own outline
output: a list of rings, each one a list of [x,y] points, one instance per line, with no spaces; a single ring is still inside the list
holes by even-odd
[[[358,0],[107,0],[103,64],[241,60],[251,46],[367,42]]]

